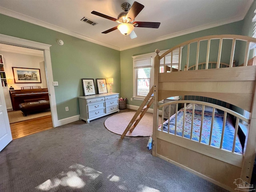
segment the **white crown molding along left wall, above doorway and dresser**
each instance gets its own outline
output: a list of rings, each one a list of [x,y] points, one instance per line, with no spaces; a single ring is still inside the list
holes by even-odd
[[[9,10],[9,9],[3,8],[3,7],[0,7],[0,13],[4,14],[4,15],[7,15],[7,16],[10,16],[10,17],[13,17],[13,18],[16,18],[16,19],[19,19],[19,20],[22,20],[22,21],[26,21],[26,22],[29,22],[29,23],[32,23],[32,24],[36,24],[36,25],[39,25],[39,26],[42,26],[42,27],[45,27],[45,28],[48,28],[48,29],[51,29],[51,30],[54,30],[54,31],[58,31],[58,32],[61,32],[61,33],[64,33],[64,34],[67,34],[67,35],[70,35],[70,36],[73,36],[73,37],[76,37],[76,38],[80,38],[82,40],[86,40],[86,41],[89,41],[89,42],[92,42],[92,43],[95,43],[95,44],[98,44],[98,45],[102,45],[102,46],[120,51],[119,47],[116,47],[116,46],[113,46],[113,45],[110,45],[110,44],[106,44],[104,42],[100,42],[98,40],[86,37],[84,35],[72,32],[70,30],[66,30],[64,28],[61,28],[61,27],[52,25],[50,23],[32,18],[30,16],[26,16],[24,14],[20,14],[18,12],[15,12],[15,11],[12,11],[12,10]]]

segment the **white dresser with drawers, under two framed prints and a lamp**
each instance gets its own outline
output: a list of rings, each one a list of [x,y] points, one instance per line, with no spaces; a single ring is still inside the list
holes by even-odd
[[[118,112],[119,93],[106,93],[78,97],[80,120],[89,123],[90,120]]]

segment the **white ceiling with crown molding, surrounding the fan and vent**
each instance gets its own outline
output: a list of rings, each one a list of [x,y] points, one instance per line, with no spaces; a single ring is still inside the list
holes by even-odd
[[[0,0],[0,13],[69,34],[116,50],[165,40],[175,36],[242,20],[253,0],[138,0],[144,9],[135,21],[160,22],[158,29],[134,28],[137,38],[124,38],[118,23],[91,14],[97,11],[117,18],[121,4],[133,0]],[[98,24],[81,22],[89,18]],[[65,41],[64,41],[65,44]]]

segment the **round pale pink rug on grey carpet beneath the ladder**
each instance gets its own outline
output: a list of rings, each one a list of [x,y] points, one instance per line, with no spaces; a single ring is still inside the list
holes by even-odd
[[[106,119],[105,126],[108,130],[118,135],[122,135],[135,112],[125,112],[118,113]],[[158,119],[159,124],[161,124],[161,118]],[[150,136],[153,132],[153,114],[146,113],[135,129],[130,133],[127,132],[126,136],[134,137],[134,136]]]

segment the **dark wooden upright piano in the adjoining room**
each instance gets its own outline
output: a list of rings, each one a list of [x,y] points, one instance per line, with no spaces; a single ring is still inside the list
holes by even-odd
[[[10,90],[10,97],[12,101],[12,109],[20,110],[20,103],[49,100],[49,93],[47,88],[30,87],[30,89],[23,88],[20,90]]]

